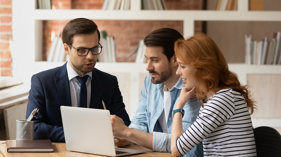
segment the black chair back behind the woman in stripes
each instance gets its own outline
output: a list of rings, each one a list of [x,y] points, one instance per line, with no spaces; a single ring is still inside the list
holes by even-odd
[[[254,128],[257,157],[281,157],[281,136],[272,127]]]

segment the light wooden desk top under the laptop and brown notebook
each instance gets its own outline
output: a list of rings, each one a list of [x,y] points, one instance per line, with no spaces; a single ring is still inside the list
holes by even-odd
[[[7,152],[7,145],[4,143],[5,141],[0,141],[0,157],[94,157],[94,156],[101,156],[101,155],[93,155],[87,153],[79,153],[73,152],[66,149],[65,143],[56,143],[53,142],[54,152],[53,153],[8,153]],[[171,153],[160,153],[154,152],[153,150],[141,147],[139,145],[128,145],[124,148],[128,149],[135,149],[135,150],[145,150],[146,153],[136,154],[136,155],[127,155],[126,157],[140,157],[140,156],[147,156],[147,157],[170,157],[172,156]],[[1,156],[2,155],[2,156]]]

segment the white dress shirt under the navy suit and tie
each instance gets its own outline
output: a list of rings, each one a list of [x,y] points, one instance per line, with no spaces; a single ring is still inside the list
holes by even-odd
[[[71,96],[71,106],[79,107],[80,102],[80,82],[77,80],[76,76],[80,76],[69,64],[67,61],[67,75],[69,80],[70,87],[70,96]],[[91,80],[92,80],[92,72],[87,72],[85,75],[89,75],[88,80],[86,82],[87,87],[87,108],[90,108],[91,102]],[[85,76],[83,75],[83,76]]]

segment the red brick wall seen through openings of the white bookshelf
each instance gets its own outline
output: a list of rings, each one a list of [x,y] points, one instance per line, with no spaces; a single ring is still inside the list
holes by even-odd
[[[104,0],[52,0],[53,8],[67,9],[70,4],[72,9],[101,9]],[[165,0],[168,9],[193,9],[202,8],[203,0]],[[60,5],[59,5],[60,4]],[[61,7],[60,7],[61,6]],[[69,7],[69,6],[68,6]],[[169,27],[183,34],[183,21],[123,21],[123,20],[93,20],[99,31],[105,30],[108,36],[116,40],[116,61],[120,61],[130,53],[139,40],[151,31],[158,28]],[[46,60],[51,45],[51,32],[62,31],[68,21],[44,21],[43,22],[43,60]],[[202,22],[195,21],[195,32],[202,31]],[[135,62],[136,55],[126,59],[124,62]]]

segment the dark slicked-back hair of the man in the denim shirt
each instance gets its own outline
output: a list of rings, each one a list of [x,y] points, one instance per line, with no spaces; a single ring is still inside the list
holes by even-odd
[[[144,45],[161,46],[163,53],[166,55],[168,61],[174,56],[174,43],[178,39],[184,39],[184,37],[177,31],[171,28],[160,28],[150,32],[144,39]]]

